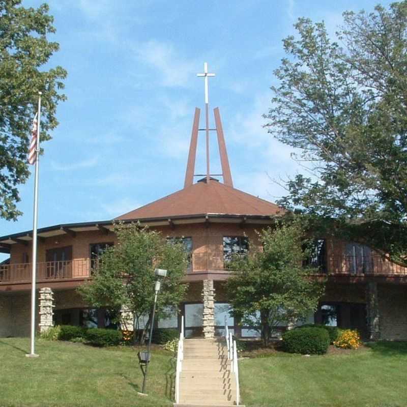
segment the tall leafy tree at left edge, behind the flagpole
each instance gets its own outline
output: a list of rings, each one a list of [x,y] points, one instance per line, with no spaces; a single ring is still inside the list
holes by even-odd
[[[38,92],[43,93],[41,141],[45,141],[58,124],[56,106],[65,100],[58,91],[67,75],[60,66],[41,69],[59,49],[59,44],[47,40],[55,32],[48,6],[34,9],[20,4],[21,0],[0,0],[0,217],[7,220],[21,215],[17,187],[30,175],[28,143]]]

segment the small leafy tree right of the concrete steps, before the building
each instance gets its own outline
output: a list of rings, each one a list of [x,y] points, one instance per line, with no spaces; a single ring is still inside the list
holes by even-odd
[[[317,270],[306,266],[310,247],[299,220],[281,222],[258,236],[263,249],[232,261],[226,288],[231,312],[241,325],[259,331],[267,346],[276,326],[316,310],[324,285],[310,277]]]

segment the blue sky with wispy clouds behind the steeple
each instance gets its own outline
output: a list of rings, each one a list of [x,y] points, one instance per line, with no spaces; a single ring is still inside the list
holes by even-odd
[[[26,7],[41,3],[23,0]],[[294,34],[300,16],[325,20],[334,33],[344,10],[371,10],[376,3],[48,4],[57,30],[51,39],[61,46],[50,65],[67,69],[68,100],[57,110],[53,139],[42,144],[39,227],[112,219],[183,187],[194,108],[203,108],[203,81],[196,77],[203,62],[216,73],[210,104],[220,108],[235,187],[277,199],[283,190],[271,179],[298,170],[290,148],[262,127],[273,70],[284,56],[281,40]],[[201,172],[202,142],[198,149]],[[216,149],[211,154],[218,172]],[[17,222],[0,220],[0,235],[32,228],[33,177],[20,191],[24,215]]]

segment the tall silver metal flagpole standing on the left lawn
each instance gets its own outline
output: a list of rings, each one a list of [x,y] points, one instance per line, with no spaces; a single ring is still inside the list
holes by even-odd
[[[34,180],[34,216],[33,216],[33,268],[31,273],[31,351],[27,357],[38,357],[35,353],[35,310],[36,310],[36,274],[37,274],[37,223],[38,223],[38,170],[40,161],[40,122],[41,122],[41,95],[38,92],[38,114],[37,114],[37,145],[35,157],[35,180]]]

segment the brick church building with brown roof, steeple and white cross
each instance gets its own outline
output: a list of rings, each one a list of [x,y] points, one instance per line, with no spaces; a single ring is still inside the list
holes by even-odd
[[[103,250],[117,239],[114,221],[140,222],[164,237],[180,239],[188,251],[184,281],[185,301],[172,317],[157,321],[159,328],[181,330],[186,337],[221,335],[225,317],[238,337],[258,333],[241,326],[228,313],[224,283],[230,275],[228,260],[259,245],[256,230],[268,227],[283,213],[275,203],[234,188],[222,122],[213,110],[210,128],[207,69],[205,125],[195,109],[182,189],[117,218],[98,222],[61,223],[38,229],[37,325],[49,321],[41,313],[44,299],[53,302],[54,324],[109,327],[109,309],[92,309],[76,288],[92,278],[90,271]],[[211,112],[212,113],[212,112]],[[212,120],[211,120],[212,121]],[[209,135],[217,136],[221,173],[210,171]],[[206,137],[207,171],[195,173],[198,134]],[[0,237],[0,251],[10,258],[0,265],[0,337],[30,334],[33,231]],[[383,259],[367,246],[326,239],[315,241],[310,259],[318,267],[315,278],[326,278],[326,292],[308,323],[358,329],[366,339],[407,340],[407,270]],[[284,327],[280,327],[284,329]]]

